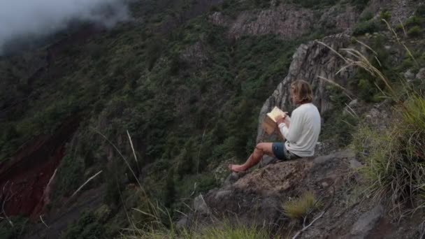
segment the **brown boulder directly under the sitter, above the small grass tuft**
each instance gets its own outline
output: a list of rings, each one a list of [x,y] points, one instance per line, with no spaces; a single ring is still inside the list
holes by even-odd
[[[212,217],[236,217],[244,224],[276,224],[282,217],[282,201],[307,190],[318,192],[331,185],[339,189],[346,176],[341,172],[350,170],[353,157],[350,151],[342,151],[264,166],[198,196],[192,218],[206,222]]]

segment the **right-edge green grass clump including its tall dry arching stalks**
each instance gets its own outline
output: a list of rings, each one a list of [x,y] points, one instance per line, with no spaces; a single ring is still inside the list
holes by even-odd
[[[404,45],[405,47],[405,45]],[[386,68],[376,67],[367,57],[353,49],[345,50],[345,58],[354,66],[375,76],[380,91],[394,103],[394,112],[380,127],[359,126],[353,145],[366,166],[361,173],[368,180],[370,194],[389,198],[391,209],[404,203],[418,203],[424,195],[425,98],[418,87],[387,78]],[[409,53],[410,55],[410,53]],[[410,55],[412,57],[412,55]],[[412,61],[417,62],[412,58]],[[384,65],[384,64],[382,64]],[[405,210],[401,210],[401,213]]]

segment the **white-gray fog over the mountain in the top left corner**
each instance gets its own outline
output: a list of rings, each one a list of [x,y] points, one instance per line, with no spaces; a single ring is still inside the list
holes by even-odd
[[[125,0],[1,0],[0,55],[7,41],[45,36],[64,29],[70,20],[112,27],[129,20]]]

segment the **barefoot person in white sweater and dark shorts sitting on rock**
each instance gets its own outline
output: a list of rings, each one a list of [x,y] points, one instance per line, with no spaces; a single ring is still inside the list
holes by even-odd
[[[312,104],[313,95],[310,84],[304,80],[296,80],[291,84],[291,100],[299,105],[292,117],[280,117],[276,126],[283,141],[275,143],[259,143],[245,164],[230,164],[234,172],[246,171],[255,166],[264,154],[274,156],[280,160],[311,157],[315,153],[315,145],[320,133],[320,114]]]

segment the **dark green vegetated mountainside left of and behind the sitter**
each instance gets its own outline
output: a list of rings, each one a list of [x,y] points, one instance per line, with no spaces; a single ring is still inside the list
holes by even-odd
[[[134,4],[134,14],[145,16],[145,22],[121,24],[90,36],[84,44],[59,45],[50,56],[49,71],[31,84],[20,79],[27,79],[25,74],[33,74],[36,66],[30,68],[19,57],[14,59],[22,61],[19,64],[0,61],[10,83],[1,89],[7,90],[5,102],[12,105],[9,100],[22,99],[0,122],[0,160],[34,137],[55,135],[63,124],[77,120],[49,208],[68,206],[63,200],[102,171],[82,191],[103,185],[110,216],[101,224],[112,237],[129,223],[124,208],[145,208],[155,198],[175,219],[194,195],[217,187],[210,168],[231,157],[245,160],[255,144],[261,105],[287,74],[299,43],[312,38],[283,41],[269,34],[229,39],[228,29],[205,16],[179,22],[165,34],[157,29],[175,20],[172,15],[184,15],[192,3]],[[216,8],[231,17],[268,4],[229,0]],[[41,52],[31,57],[43,66],[47,50]],[[138,180],[146,195],[131,196],[134,190],[128,185]],[[137,224],[150,220],[140,217]],[[77,222],[67,234],[70,238],[96,235],[96,220],[83,215],[80,221],[89,221],[94,230],[86,232]]]

